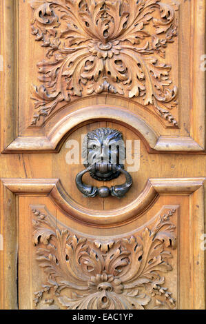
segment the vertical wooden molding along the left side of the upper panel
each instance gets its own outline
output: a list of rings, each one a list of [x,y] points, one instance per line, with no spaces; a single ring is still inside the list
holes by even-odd
[[[6,148],[16,138],[17,6],[15,0],[1,1],[1,148]]]

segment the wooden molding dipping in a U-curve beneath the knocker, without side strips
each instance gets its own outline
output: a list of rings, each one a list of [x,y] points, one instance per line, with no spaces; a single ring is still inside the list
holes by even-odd
[[[59,179],[1,179],[3,185],[15,194],[47,194],[50,199],[76,221],[90,226],[119,226],[145,213],[160,194],[192,194],[205,178],[149,179],[138,197],[125,207],[115,210],[91,210],[76,203],[65,192]]]

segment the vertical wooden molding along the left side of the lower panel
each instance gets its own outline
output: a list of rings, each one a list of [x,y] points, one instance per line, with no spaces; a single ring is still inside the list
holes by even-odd
[[[3,251],[1,255],[2,310],[16,310],[17,305],[17,197],[1,183],[1,227]]]

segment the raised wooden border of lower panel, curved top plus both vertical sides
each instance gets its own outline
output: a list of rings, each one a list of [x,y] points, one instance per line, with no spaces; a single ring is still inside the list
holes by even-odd
[[[17,308],[17,196],[35,194],[50,196],[63,212],[75,212],[76,220],[96,221],[96,225],[108,225],[105,218],[116,226],[121,225],[119,218],[130,221],[132,216],[138,216],[151,207],[155,199],[161,195],[187,195],[189,196],[189,228],[191,236],[188,238],[192,265],[191,298],[188,296],[189,309],[205,309],[205,251],[200,249],[201,236],[205,232],[204,185],[206,178],[187,179],[150,179],[145,190],[138,198],[125,208],[107,212],[91,212],[67,201],[61,183],[58,179],[1,179],[1,190],[4,197],[4,206],[1,206],[1,228],[3,234],[3,252],[1,256],[1,309]],[[63,195],[63,196],[62,196]],[[87,213],[84,214],[83,213]],[[118,216],[117,216],[118,215]],[[70,216],[70,214],[68,215]],[[118,217],[118,219],[116,218]],[[112,223],[111,223],[112,222]],[[119,222],[119,223],[118,223]],[[88,225],[92,226],[91,223]],[[188,292],[189,294],[189,292]]]

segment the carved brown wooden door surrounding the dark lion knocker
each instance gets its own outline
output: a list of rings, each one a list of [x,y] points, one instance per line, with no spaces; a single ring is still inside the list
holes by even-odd
[[[3,0],[1,76],[1,308],[204,309],[205,0]],[[76,188],[99,128],[121,199]]]

